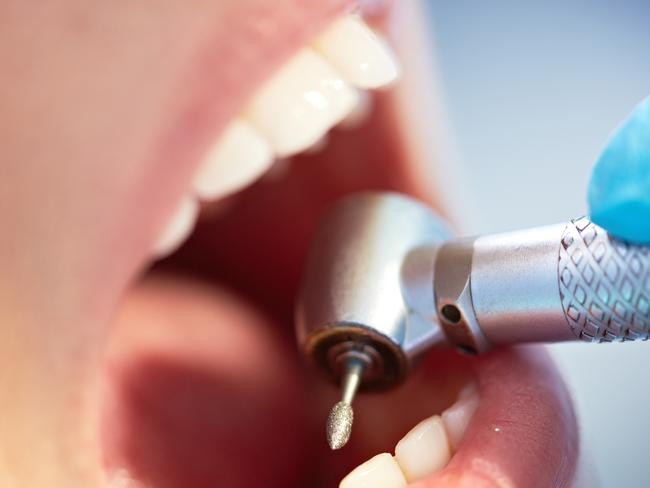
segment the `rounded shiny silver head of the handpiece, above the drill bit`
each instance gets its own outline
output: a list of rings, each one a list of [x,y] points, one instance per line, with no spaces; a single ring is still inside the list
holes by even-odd
[[[372,364],[362,388],[401,381],[443,339],[432,305],[434,251],[416,250],[432,250],[448,235],[430,209],[398,194],[363,193],[335,205],[315,233],[298,295],[305,354],[336,381],[341,371],[330,351],[365,350]]]

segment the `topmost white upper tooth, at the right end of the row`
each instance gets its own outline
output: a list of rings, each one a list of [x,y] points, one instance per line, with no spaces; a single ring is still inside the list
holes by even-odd
[[[399,76],[399,66],[388,45],[356,15],[335,21],[316,39],[315,46],[359,88],[385,86]]]

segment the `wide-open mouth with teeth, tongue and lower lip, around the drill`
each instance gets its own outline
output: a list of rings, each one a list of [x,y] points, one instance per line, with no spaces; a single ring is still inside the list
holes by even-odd
[[[201,99],[202,110],[188,110],[172,131],[185,142],[160,145],[168,161],[160,180],[176,190],[151,190],[162,202],[152,211],[159,232],[140,257],[168,257],[124,294],[104,364],[102,457],[112,486],[326,487],[366,460],[341,486],[571,483],[575,419],[536,348],[476,359],[434,353],[404,387],[362,395],[350,445],[328,450],[324,421],[337,391],[306,371],[293,338],[318,217],[369,189],[444,213],[430,176],[436,125],[422,92],[430,80],[421,12],[366,2],[359,13],[343,3],[294,8],[285,27],[295,45],[274,45],[274,66],[241,86],[223,74],[231,84],[218,113],[206,115]],[[188,138],[194,129],[203,135]],[[170,170],[180,157],[198,162]]]

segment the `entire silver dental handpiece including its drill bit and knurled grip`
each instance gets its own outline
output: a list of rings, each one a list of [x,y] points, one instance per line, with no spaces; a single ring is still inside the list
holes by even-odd
[[[345,198],[313,238],[296,307],[298,343],[342,387],[327,422],[347,442],[358,389],[391,388],[433,348],[622,342],[650,334],[650,247],[579,218],[451,238],[395,193]]]

